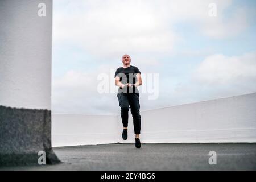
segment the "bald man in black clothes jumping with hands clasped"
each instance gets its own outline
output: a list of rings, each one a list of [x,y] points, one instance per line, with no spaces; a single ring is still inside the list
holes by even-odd
[[[128,130],[128,113],[131,107],[133,115],[133,125],[135,134],[135,147],[141,148],[139,134],[141,134],[141,115],[139,114],[139,92],[137,87],[142,85],[141,72],[137,67],[130,65],[131,57],[129,55],[122,56],[123,67],[115,72],[115,85],[118,89],[118,101],[121,107],[121,118],[123,123],[122,138],[127,139]],[[130,107],[129,107],[130,105]]]

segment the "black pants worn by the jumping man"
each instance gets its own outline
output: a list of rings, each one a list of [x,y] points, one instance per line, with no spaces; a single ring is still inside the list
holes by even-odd
[[[121,118],[123,127],[128,127],[128,113],[131,107],[133,115],[134,134],[141,133],[141,115],[139,114],[139,94],[138,93],[118,93],[119,106],[121,107]],[[129,107],[130,105],[130,107]]]

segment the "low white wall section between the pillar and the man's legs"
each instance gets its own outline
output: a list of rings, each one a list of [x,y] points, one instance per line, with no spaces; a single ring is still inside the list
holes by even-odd
[[[114,115],[52,114],[52,146],[115,143],[117,123]]]

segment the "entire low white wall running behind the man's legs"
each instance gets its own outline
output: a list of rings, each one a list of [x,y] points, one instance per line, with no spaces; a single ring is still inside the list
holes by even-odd
[[[142,101],[143,102],[143,101]],[[256,142],[256,93],[141,111],[143,143]],[[133,143],[118,116],[52,114],[53,146]]]

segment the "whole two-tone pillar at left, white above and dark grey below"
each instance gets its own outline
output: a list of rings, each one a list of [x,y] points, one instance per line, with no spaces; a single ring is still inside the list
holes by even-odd
[[[0,1],[0,165],[59,163],[51,147],[52,0]],[[40,155],[38,155],[38,153]]]

